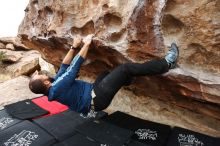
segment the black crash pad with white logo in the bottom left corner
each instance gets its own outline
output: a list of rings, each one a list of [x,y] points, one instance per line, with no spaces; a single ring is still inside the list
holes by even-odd
[[[23,121],[0,132],[1,146],[49,146],[55,139],[44,130],[31,123]]]

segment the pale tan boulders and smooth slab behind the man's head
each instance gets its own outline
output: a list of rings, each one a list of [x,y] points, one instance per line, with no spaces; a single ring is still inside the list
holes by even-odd
[[[24,99],[38,97],[28,87],[29,76],[35,70],[54,71],[38,51],[24,47],[18,38],[0,38],[0,109]]]

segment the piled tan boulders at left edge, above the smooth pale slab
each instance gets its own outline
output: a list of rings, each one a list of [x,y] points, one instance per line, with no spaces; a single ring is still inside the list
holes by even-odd
[[[40,53],[28,49],[19,38],[0,38],[0,82],[40,69],[39,58]]]

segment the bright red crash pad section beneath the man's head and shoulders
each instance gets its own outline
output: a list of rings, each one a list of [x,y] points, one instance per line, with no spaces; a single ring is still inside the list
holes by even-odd
[[[37,104],[38,106],[40,106],[41,108],[49,112],[49,114],[44,115],[43,117],[55,115],[55,114],[64,112],[67,109],[69,109],[66,105],[63,105],[57,101],[48,101],[47,96],[41,96],[41,97],[32,99],[32,102],[34,102],[35,104]]]

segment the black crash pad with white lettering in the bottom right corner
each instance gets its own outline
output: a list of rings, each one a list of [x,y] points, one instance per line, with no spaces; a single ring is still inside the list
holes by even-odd
[[[167,146],[220,146],[215,138],[191,130],[174,127]]]

